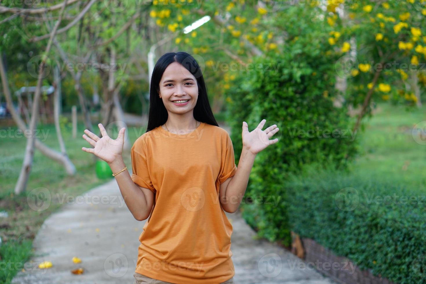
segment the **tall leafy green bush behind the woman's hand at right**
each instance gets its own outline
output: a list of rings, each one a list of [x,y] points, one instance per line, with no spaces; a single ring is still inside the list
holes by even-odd
[[[248,123],[249,131],[262,119],[267,120],[264,129],[273,124],[280,129],[272,137],[279,142],[257,155],[246,197],[276,195],[282,191],[288,173],[298,172],[305,164],[321,162],[344,168],[357,152],[354,136],[348,132],[350,118],[345,107],[333,106],[337,93],[333,58],[315,47],[302,49],[299,43],[287,48],[282,54],[253,58],[253,66],[272,62],[278,68],[274,71],[264,65],[242,72],[229,91],[227,121],[236,159],[242,150],[242,121]],[[242,204],[241,208],[244,218],[256,224],[259,236],[290,244],[287,208],[271,204]]]

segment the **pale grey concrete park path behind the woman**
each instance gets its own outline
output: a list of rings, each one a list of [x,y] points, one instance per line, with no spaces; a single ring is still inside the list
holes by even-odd
[[[301,259],[284,248],[253,238],[256,232],[239,211],[226,215],[233,225],[235,283],[335,283],[306,268]],[[12,283],[132,284],[144,224],[133,218],[113,179],[64,204],[45,220],[34,239],[32,263],[28,262],[26,270],[20,271]],[[73,263],[73,257],[82,262]],[[38,269],[42,261],[51,261],[53,266]],[[83,267],[84,273],[72,274],[71,270],[78,267]]]

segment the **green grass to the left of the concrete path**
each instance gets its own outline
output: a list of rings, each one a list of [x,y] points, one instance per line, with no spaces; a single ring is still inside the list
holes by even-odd
[[[43,221],[61,207],[58,198],[56,198],[57,193],[60,197],[63,194],[76,197],[110,179],[100,180],[97,178],[95,156],[81,149],[83,146],[87,148],[92,146],[82,138],[85,127],[80,122],[76,138],[72,138],[72,129],[69,125],[61,128],[66,151],[77,169],[77,174],[68,176],[62,165],[50,160],[35,149],[34,163],[26,192],[15,195],[14,186],[22,167],[26,138],[23,135],[21,135],[21,138],[17,137],[16,127],[9,128],[8,126],[0,129],[6,129],[8,132],[9,129],[12,130],[10,132],[12,135],[7,134],[6,138],[3,135],[0,139],[0,157],[2,157],[0,158],[0,209],[9,213],[8,218],[0,218],[0,236],[3,241],[0,249],[0,265],[4,265],[1,262],[6,260],[24,263],[32,256],[32,240]],[[39,125],[38,129],[44,129],[47,134],[44,143],[59,151],[55,127],[53,125]],[[95,126],[95,129],[98,129],[98,127]],[[128,127],[127,134],[130,146],[144,132],[145,129],[141,127]],[[96,132],[95,134],[98,135]],[[111,135],[111,133],[109,134]],[[117,132],[112,135],[113,138],[116,138],[116,136]],[[40,140],[44,139],[40,134]],[[123,153],[123,158],[126,165],[131,166],[130,149]],[[52,202],[46,210],[37,212],[29,207],[26,197],[31,190],[38,191],[43,188],[48,189],[51,193]],[[0,283],[10,283],[17,272],[18,270],[14,269],[0,271]]]

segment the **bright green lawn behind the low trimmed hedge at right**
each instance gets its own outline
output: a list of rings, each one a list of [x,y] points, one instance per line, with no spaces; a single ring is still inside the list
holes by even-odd
[[[412,136],[413,126],[426,120],[426,107],[406,111],[404,106],[380,104],[377,113],[366,118],[366,127],[357,133],[360,157],[351,171],[365,178],[391,180],[426,189],[426,145]]]

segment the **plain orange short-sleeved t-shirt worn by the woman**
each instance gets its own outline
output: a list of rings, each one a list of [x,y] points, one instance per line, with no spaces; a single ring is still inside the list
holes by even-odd
[[[176,284],[232,278],[232,225],[219,201],[220,184],[236,173],[226,130],[202,122],[179,134],[158,126],[135,141],[131,155],[132,180],[156,192],[135,272]]]

